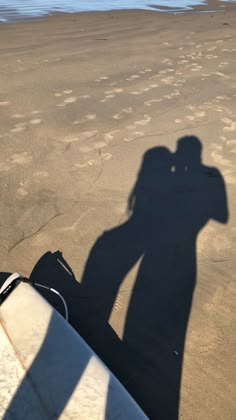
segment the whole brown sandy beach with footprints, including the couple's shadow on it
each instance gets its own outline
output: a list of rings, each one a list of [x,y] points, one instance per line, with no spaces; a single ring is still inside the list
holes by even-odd
[[[1,271],[48,253],[35,276],[151,419],[236,415],[235,20],[0,25]]]

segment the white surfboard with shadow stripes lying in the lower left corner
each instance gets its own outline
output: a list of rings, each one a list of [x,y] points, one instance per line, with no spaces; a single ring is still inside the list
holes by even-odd
[[[0,306],[0,418],[147,419],[79,334],[25,283]]]

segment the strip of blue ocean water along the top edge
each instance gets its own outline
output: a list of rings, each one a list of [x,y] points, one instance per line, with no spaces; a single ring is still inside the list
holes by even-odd
[[[236,0],[219,0],[219,11],[224,4]],[[204,6],[208,0],[0,0],[0,22],[37,18],[55,12],[89,12],[121,9],[145,9],[167,13],[184,13],[196,5]]]

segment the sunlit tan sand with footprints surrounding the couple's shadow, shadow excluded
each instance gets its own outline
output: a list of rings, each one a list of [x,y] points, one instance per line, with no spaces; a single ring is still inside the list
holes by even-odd
[[[224,179],[227,223],[210,214],[197,238],[179,409],[186,420],[236,416],[235,21],[231,5],[217,14],[62,14],[0,26],[1,271],[29,275],[60,249],[80,281],[99,235],[126,220],[143,154],[154,146],[174,152],[180,137],[195,135],[204,165]],[[121,338],[137,267],[113,302],[110,323]],[[158,414],[158,392],[146,399],[147,384],[158,383],[151,371],[145,389],[140,375],[138,391],[129,380],[127,388],[151,418],[169,420]]]

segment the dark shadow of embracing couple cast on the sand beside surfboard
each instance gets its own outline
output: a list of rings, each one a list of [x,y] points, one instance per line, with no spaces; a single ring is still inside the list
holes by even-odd
[[[210,219],[228,218],[223,178],[202,163],[201,154],[194,136],[179,139],[175,153],[157,146],[144,154],[127,221],[97,239],[81,283],[59,252],[44,254],[31,274],[60,291],[71,325],[151,419],[178,418],[196,239]],[[120,339],[109,318],[123,279],[138,261]],[[45,297],[58,307],[54,297]]]

